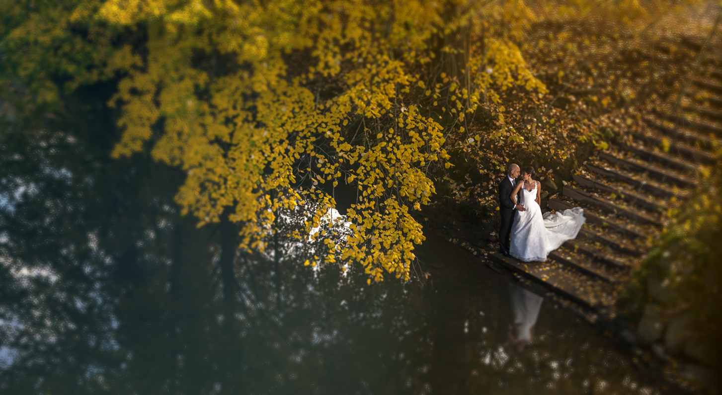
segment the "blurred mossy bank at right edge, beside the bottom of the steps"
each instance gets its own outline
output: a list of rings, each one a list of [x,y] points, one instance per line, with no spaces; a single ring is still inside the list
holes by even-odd
[[[670,218],[661,242],[632,274],[621,303],[637,339],[670,373],[722,388],[722,211],[719,171]]]

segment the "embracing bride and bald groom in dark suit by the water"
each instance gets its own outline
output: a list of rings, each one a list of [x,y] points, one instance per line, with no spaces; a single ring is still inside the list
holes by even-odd
[[[521,177],[520,177],[521,175]],[[534,168],[511,164],[499,191],[499,252],[521,261],[546,261],[547,255],[577,237],[584,224],[579,207],[541,214],[541,183]]]

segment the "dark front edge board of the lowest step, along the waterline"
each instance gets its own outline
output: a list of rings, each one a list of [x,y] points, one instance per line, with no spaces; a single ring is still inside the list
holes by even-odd
[[[490,258],[506,267],[512,272],[520,274],[522,277],[526,277],[536,282],[537,284],[544,285],[549,290],[556,292],[565,298],[574,300],[576,303],[598,310],[599,303],[590,300],[587,295],[582,295],[574,285],[574,279],[567,279],[559,273],[541,271],[538,270],[539,262],[522,262],[514,259],[510,256],[503,256],[500,253],[490,253]]]

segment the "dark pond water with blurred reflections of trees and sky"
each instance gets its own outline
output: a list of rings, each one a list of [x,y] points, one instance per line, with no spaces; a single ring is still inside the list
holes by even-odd
[[[278,216],[263,253],[240,253],[232,223],[178,213],[183,173],[109,159],[106,99],[88,92],[74,118],[0,136],[1,394],[656,391],[554,305],[513,318],[508,280],[432,233],[416,251],[423,283],[303,266],[323,246],[284,239],[302,212]],[[527,350],[504,350],[508,323],[537,313]]]

